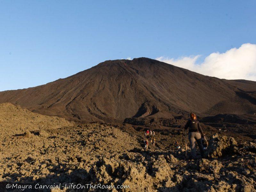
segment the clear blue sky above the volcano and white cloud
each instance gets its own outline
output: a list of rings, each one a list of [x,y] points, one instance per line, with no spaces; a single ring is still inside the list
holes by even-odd
[[[0,1],[0,91],[104,60],[200,55],[204,63],[211,53],[256,44],[255,10],[256,1]]]

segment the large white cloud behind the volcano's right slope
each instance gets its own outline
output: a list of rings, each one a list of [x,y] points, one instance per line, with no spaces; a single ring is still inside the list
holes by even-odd
[[[221,79],[246,79],[256,81],[256,44],[242,44],[224,53],[214,52],[202,63],[197,63],[201,55],[173,59],[157,57],[156,60],[186,68],[207,76]]]

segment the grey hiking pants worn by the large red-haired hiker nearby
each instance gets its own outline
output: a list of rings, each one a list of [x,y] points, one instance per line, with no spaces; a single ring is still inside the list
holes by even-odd
[[[202,144],[201,134],[198,132],[188,132],[188,139],[190,142],[192,158],[196,157],[196,142],[200,149],[201,156],[203,157],[204,156],[204,147]]]

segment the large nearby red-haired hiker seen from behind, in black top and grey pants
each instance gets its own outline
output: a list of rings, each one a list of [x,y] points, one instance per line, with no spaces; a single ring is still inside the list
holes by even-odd
[[[197,121],[196,115],[194,113],[190,113],[190,118],[191,120],[188,120],[184,128],[187,130],[189,127],[188,139],[190,142],[191,156],[192,158],[196,158],[196,142],[197,142],[198,147],[200,149],[201,156],[204,157],[204,147],[201,139],[201,134],[205,139],[204,132],[201,128],[200,123]]]

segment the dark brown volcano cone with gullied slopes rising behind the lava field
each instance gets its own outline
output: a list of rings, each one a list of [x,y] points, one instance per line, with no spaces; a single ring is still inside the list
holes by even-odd
[[[256,82],[204,76],[148,58],[107,60],[64,79],[0,92],[0,103],[84,122],[254,114]]]

